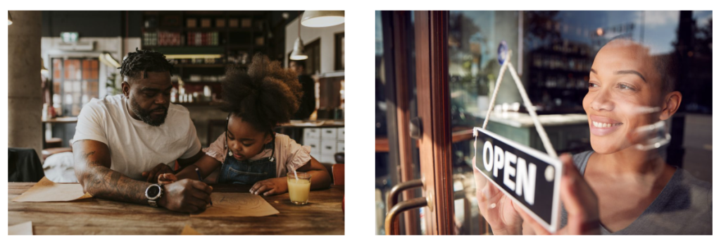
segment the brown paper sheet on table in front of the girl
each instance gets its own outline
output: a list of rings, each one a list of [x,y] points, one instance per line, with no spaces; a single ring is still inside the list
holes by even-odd
[[[191,214],[191,217],[247,217],[272,216],[278,210],[260,195],[249,193],[213,193],[213,205],[208,205],[203,213]]]

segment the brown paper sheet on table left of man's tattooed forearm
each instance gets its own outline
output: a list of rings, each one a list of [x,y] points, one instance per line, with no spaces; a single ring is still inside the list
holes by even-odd
[[[83,192],[79,183],[55,183],[43,177],[40,182],[29,190],[12,199],[14,202],[57,202],[92,198],[89,193]]]

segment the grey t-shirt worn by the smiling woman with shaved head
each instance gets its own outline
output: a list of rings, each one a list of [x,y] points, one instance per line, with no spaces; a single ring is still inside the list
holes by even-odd
[[[593,151],[573,155],[581,175]],[[696,179],[684,169],[676,169],[673,177],[653,203],[629,226],[614,233],[601,226],[601,234],[712,234],[711,184]],[[566,226],[567,213],[562,208],[561,226]]]

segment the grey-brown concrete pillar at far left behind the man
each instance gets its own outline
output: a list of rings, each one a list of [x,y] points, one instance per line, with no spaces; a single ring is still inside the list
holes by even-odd
[[[39,11],[10,11],[8,29],[8,147],[35,149],[42,159]]]

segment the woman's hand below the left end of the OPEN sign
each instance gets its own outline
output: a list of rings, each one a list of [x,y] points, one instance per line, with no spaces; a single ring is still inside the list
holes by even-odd
[[[473,169],[473,175],[479,211],[493,229],[493,234],[521,234],[523,219],[513,208],[513,201],[488,182],[481,172]]]

